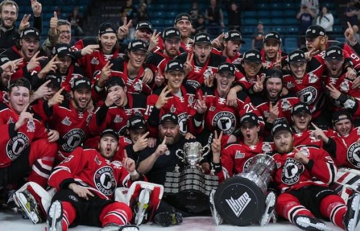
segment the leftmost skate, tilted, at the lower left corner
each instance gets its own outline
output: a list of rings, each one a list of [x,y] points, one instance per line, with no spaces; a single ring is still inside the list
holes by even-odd
[[[14,194],[14,200],[18,206],[24,211],[27,217],[34,224],[42,223],[45,221],[45,217],[41,211],[40,205],[29,191],[23,191],[19,194]]]

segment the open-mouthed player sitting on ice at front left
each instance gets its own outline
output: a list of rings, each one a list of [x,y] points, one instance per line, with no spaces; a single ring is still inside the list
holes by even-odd
[[[131,221],[131,208],[113,201],[114,191],[118,185],[129,187],[144,177],[130,158],[125,157],[121,163],[110,162],[118,150],[116,131],[104,130],[98,149],[78,147],[54,168],[49,185],[58,191],[47,213],[47,230],[66,231],[78,224],[119,230]],[[135,227],[132,230],[138,230]]]

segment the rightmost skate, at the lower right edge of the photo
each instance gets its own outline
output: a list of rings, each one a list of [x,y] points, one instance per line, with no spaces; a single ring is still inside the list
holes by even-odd
[[[347,231],[354,231],[360,219],[360,194],[354,192],[348,200],[348,210],[344,216],[344,227]]]

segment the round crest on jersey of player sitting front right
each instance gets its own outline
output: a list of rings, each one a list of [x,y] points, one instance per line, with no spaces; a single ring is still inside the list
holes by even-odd
[[[287,185],[293,185],[300,180],[300,174],[304,171],[304,165],[293,158],[287,158],[281,172],[281,181]]]

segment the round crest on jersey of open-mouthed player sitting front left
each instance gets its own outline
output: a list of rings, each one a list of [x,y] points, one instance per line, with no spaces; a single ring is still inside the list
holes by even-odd
[[[114,177],[113,168],[110,166],[103,166],[99,168],[94,175],[94,182],[96,188],[104,195],[112,195],[116,188],[116,181]]]

